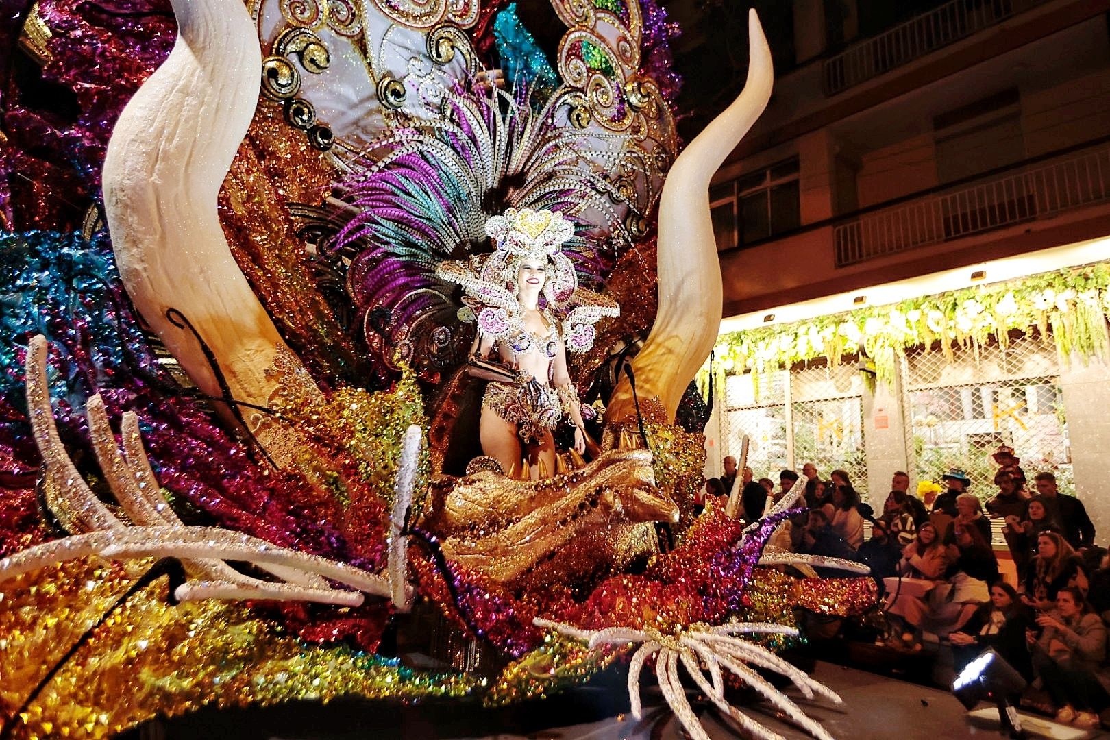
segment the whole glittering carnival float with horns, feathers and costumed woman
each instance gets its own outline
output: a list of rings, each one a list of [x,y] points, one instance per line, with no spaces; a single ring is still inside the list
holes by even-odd
[[[687,688],[779,737],[736,687],[828,737],[767,676],[837,700],[778,652],[866,569],[766,548],[800,487],[693,513],[758,19],[683,145],[654,0],[549,16],[555,64],[497,2],[26,3],[6,41],[65,114],[4,90],[0,737],[614,667],[695,738]],[[422,670],[398,630],[483,658]]]

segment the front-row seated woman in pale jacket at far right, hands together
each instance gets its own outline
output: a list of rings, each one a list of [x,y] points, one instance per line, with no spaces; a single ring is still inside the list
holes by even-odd
[[[1029,630],[1026,640],[1033,670],[1052,697],[1057,721],[1097,729],[1098,712],[1110,702],[1097,673],[1106,658],[1106,625],[1091,612],[1080,589],[1066,586],[1057,592],[1056,608],[1037,617],[1037,626],[1040,635]]]

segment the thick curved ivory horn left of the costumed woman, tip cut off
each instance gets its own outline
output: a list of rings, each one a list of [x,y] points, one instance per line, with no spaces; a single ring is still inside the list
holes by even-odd
[[[262,54],[240,0],[172,6],[176,43],[123,109],[104,158],[115,262],[135,307],[201,391],[223,395],[200,342],[180,318],[170,321],[171,308],[212,349],[231,396],[265,405],[279,384],[275,356],[294,355],[235,264],[216,213],[254,115]],[[259,419],[249,425],[280,458],[275,435],[285,432]]]

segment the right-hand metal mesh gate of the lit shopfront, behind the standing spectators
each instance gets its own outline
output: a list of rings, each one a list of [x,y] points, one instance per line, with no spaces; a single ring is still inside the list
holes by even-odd
[[[907,450],[918,479],[940,480],[962,468],[971,490],[995,493],[998,466],[991,454],[1015,448],[1030,477],[1052,470],[1070,488],[1068,425],[1056,348],[1031,335],[978,353],[957,348],[955,362],[938,351],[918,351],[902,364]]]

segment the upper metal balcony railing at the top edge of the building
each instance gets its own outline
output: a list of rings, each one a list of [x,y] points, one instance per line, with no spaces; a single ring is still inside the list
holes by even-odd
[[[1045,0],[952,0],[825,61],[825,94],[835,95],[884,72],[995,26]]]

